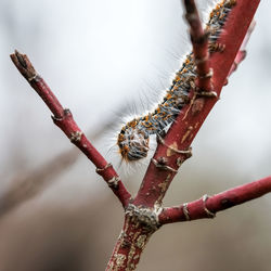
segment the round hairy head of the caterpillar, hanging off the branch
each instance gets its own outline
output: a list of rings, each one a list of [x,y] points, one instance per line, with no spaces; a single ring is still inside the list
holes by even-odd
[[[147,156],[149,133],[137,128],[137,120],[122,127],[117,138],[119,153],[126,162],[139,160]]]

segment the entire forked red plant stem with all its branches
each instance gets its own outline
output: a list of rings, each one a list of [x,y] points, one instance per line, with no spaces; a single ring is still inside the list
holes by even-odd
[[[209,61],[206,50],[206,38],[198,17],[188,15],[191,24],[191,36],[197,74],[197,86],[210,90],[210,80],[201,82],[201,77],[206,77],[209,67],[212,68],[212,88],[219,96],[228,75],[234,67],[234,61],[240,63],[243,59],[242,41],[254,17],[260,0],[237,0],[227,17],[223,30],[217,42],[223,46],[222,52],[211,53]],[[185,0],[188,14],[195,13],[194,1]],[[191,5],[192,4],[192,5]],[[204,42],[198,42],[201,39]],[[198,43],[198,44],[197,44]],[[240,52],[240,54],[238,54]],[[12,61],[27,79],[30,86],[43,99],[53,113],[53,120],[68,139],[77,145],[87,157],[96,166],[98,173],[108,183],[113,192],[121,202],[126,210],[122,232],[114,248],[106,270],[134,270],[141,253],[150,236],[162,225],[169,222],[214,217],[215,212],[256,198],[270,192],[271,178],[245,184],[240,188],[223,192],[212,197],[204,197],[177,208],[160,207],[162,201],[177,173],[180,165],[189,157],[190,145],[196,133],[208,116],[217,99],[210,95],[198,98],[195,90],[191,90],[191,102],[180,112],[177,120],[170,127],[164,139],[159,139],[157,150],[147,168],[140,190],[132,201],[130,193],[125,189],[111,164],[91,145],[86,136],[78,128],[70,112],[64,109],[43,79],[37,75],[26,55],[15,52]],[[198,61],[199,60],[199,61]],[[201,65],[199,65],[201,64]],[[199,83],[201,82],[201,83]],[[197,91],[197,90],[196,90]],[[162,212],[160,212],[162,211]]]

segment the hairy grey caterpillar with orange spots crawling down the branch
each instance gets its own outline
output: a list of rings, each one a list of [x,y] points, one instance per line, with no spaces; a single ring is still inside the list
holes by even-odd
[[[209,33],[210,53],[223,50],[223,46],[216,41],[234,4],[233,0],[222,0],[210,12],[209,21],[206,24],[206,31]],[[193,53],[190,53],[182,67],[176,73],[171,87],[156,109],[132,119],[121,128],[117,137],[117,145],[122,159],[133,162],[147,156],[150,136],[164,133],[165,129],[175,121],[182,107],[190,102],[189,94],[190,90],[195,87],[195,78],[196,66]]]

